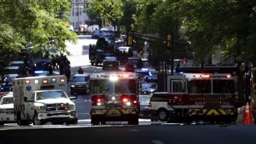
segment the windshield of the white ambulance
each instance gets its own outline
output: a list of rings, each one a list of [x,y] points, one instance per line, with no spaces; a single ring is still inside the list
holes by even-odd
[[[63,91],[41,91],[37,92],[36,100],[45,99],[68,99],[67,95]]]

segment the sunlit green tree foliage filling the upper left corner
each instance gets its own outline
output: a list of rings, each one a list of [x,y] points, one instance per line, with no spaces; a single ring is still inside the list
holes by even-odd
[[[58,19],[61,8],[71,8],[68,0],[0,1],[0,49],[19,51],[26,43],[34,49],[66,52],[65,40],[76,42],[76,34]]]

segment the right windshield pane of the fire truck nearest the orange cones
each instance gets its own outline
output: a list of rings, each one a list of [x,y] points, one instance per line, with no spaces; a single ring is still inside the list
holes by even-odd
[[[212,80],[214,93],[234,93],[233,80]]]

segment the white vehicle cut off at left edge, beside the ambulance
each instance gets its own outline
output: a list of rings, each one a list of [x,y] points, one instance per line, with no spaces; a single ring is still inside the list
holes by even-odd
[[[13,94],[7,94],[0,99],[0,125],[17,123],[14,120]]]

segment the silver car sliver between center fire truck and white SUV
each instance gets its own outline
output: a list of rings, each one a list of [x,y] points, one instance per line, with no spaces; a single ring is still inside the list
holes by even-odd
[[[139,118],[150,119],[152,115],[148,114],[148,103],[152,95],[138,95],[138,102],[140,102]]]

